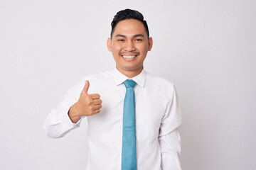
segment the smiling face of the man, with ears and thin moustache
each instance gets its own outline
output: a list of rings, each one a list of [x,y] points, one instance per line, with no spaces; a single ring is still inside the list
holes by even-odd
[[[153,40],[147,38],[143,23],[135,19],[119,21],[112,39],[107,40],[107,48],[112,52],[117,69],[127,77],[142,72],[143,62],[152,45]]]

